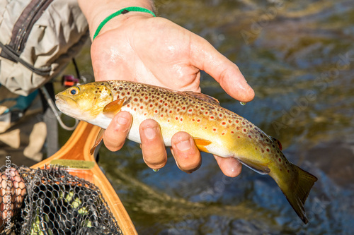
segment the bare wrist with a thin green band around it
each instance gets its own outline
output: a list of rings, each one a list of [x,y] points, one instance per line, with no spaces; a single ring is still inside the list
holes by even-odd
[[[147,8],[150,11],[154,11],[154,5],[151,0],[115,0],[115,1],[107,1],[101,2],[96,0],[78,0],[81,11],[84,13],[86,20],[89,23],[90,37],[91,40],[93,38],[93,34],[96,32],[98,25],[110,16],[110,14],[115,13],[116,11],[121,10],[122,8],[127,8],[130,6],[139,6],[142,8]],[[149,13],[142,12],[129,12],[127,14],[123,14],[121,16],[115,17],[110,20],[105,26],[102,28],[101,33],[111,28],[118,28],[122,25],[127,18],[131,16],[142,16],[142,17],[152,17]]]

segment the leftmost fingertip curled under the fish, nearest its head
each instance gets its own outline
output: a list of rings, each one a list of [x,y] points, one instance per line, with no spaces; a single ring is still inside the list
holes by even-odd
[[[103,134],[105,147],[110,151],[120,150],[125,143],[131,125],[132,115],[129,112],[122,111],[115,115]]]

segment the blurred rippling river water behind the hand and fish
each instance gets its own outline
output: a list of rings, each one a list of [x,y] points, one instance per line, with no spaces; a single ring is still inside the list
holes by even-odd
[[[256,92],[241,106],[202,73],[202,92],[282,142],[319,178],[302,224],[269,176],[235,179],[211,155],[185,174],[169,152],[149,169],[139,145],[101,147],[99,164],[139,234],[354,234],[354,1],[157,0],[159,16],[205,37]],[[89,44],[77,58],[93,80]],[[72,68],[67,69],[70,73]],[[62,143],[69,133],[62,133]]]

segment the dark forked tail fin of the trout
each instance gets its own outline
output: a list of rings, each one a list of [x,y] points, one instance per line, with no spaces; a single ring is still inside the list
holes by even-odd
[[[280,189],[282,190],[282,193],[285,194],[297,215],[302,219],[302,222],[307,224],[309,221],[305,215],[304,203],[314,182],[317,181],[317,178],[316,176],[309,174],[309,172],[295,166],[295,164],[292,164],[292,167],[294,167],[295,172],[298,172],[298,177],[295,177],[295,181],[290,183],[290,185],[285,188],[280,187]]]

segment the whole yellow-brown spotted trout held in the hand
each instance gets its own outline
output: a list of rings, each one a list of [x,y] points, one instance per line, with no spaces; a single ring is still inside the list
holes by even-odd
[[[304,223],[304,202],[316,177],[289,162],[281,144],[243,117],[220,107],[212,97],[153,85],[109,80],[74,86],[56,96],[57,107],[69,116],[105,129],[113,116],[124,110],[133,117],[127,138],[140,143],[139,125],[154,119],[161,126],[166,146],[178,131],[193,136],[203,152],[234,157],[278,183]],[[101,141],[102,132],[96,145]]]

